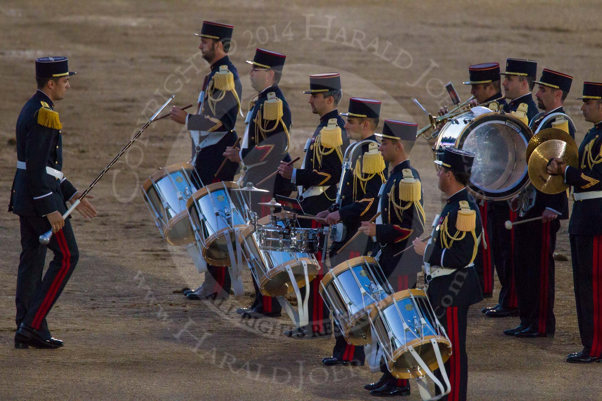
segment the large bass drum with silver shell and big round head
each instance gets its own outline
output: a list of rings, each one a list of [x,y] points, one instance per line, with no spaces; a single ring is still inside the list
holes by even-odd
[[[526,152],[532,136],[514,115],[477,106],[445,123],[433,152],[435,160],[448,146],[474,153],[470,192],[486,200],[506,200],[529,184]]]

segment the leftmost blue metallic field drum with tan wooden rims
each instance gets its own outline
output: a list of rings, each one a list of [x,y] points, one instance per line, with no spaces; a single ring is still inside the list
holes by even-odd
[[[194,168],[188,162],[160,168],[142,185],[144,202],[161,236],[170,245],[186,245],[194,241],[186,203],[199,186]]]

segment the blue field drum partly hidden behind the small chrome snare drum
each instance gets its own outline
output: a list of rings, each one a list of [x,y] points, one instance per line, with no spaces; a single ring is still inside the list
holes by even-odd
[[[277,225],[283,229],[286,225],[285,215],[286,213],[275,213]],[[264,227],[276,228],[270,226],[270,222],[270,216],[265,216],[257,221],[257,227],[259,229]],[[294,280],[299,288],[305,286],[304,264],[307,267],[309,281],[313,280],[320,272],[318,260],[312,253],[262,248],[259,245],[259,235],[252,225],[244,230],[243,237],[252,254],[249,257],[251,260],[249,268],[255,275],[259,290],[264,295],[281,296],[294,291],[288,268],[293,272]]]

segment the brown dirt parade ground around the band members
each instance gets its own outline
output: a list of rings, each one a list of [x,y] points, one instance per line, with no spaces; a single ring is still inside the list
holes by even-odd
[[[0,199],[8,203],[15,164],[15,124],[36,89],[34,59],[69,57],[71,88],[55,111],[63,123],[63,171],[85,189],[165,99],[196,105],[209,71],[197,49],[202,20],[231,23],[230,52],[243,85],[243,112],[255,94],[249,66],[256,47],[287,55],[280,87],[291,107],[291,156],[302,155],[318,124],[308,95],[310,73],[340,72],[346,111],[350,96],[382,100],[382,118],[416,121],[450,105],[443,85],[470,97],[468,66],[507,57],[574,76],[565,111],[579,144],[591,127],[579,111],[583,81],[601,81],[600,8],[586,0],[485,3],[423,0],[283,3],[258,0],[79,2],[5,0],[0,6]],[[381,123],[382,126],[382,123]],[[380,129],[380,127],[379,127]],[[244,132],[238,118],[237,132]],[[427,222],[441,210],[431,145],[419,139],[411,155],[420,171]],[[80,258],[48,316],[61,349],[14,349],[19,218],[0,214],[0,399],[370,399],[362,386],[380,374],[368,366],[324,367],[334,339],[294,340],[278,319],[241,320],[245,296],[189,301],[182,287],[202,282],[183,247],[167,245],[141,197],[141,183],[163,167],[190,159],[190,137],[169,118],[153,123],[93,189],[99,215],[75,213]],[[5,207],[5,206],[4,206]],[[582,349],[573,292],[568,222],[556,251],[556,335],[502,334],[517,317],[491,319],[470,308],[467,350],[470,400],[601,399],[602,364],[568,364]],[[534,249],[535,250],[535,249]],[[48,253],[47,262],[51,260]],[[417,385],[412,395],[419,400]]]

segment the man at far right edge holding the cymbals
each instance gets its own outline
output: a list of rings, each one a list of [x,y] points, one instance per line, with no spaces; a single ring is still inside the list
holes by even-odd
[[[554,159],[548,173],[561,174],[573,186],[568,225],[573,261],[577,322],[583,349],[566,357],[571,363],[602,360],[602,82],[583,82],[581,110],[594,127],[579,147],[579,166]]]

